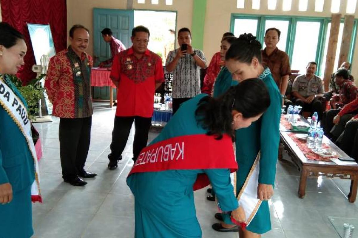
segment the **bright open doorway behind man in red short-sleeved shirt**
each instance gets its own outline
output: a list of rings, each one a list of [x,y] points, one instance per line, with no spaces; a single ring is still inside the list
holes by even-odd
[[[149,29],[148,49],[158,54],[165,64],[166,56],[175,48],[176,12],[134,11],[134,26],[143,25]]]

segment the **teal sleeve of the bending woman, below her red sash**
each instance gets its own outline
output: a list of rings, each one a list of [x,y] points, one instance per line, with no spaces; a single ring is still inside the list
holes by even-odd
[[[204,169],[213,186],[215,195],[218,198],[222,211],[235,210],[239,204],[234,195],[234,188],[231,184],[229,169]]]

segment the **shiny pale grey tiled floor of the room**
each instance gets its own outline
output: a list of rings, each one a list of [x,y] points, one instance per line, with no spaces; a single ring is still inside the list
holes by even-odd
[[[92,138],[86,168],[98,176],[86,179],[85,187],[64,183],[59,162],[58,118],[35,123],[43,145],[40,160],[41,188],[44,203],[33,204],[33,224],[37,238],[130,238],[134,237],[134,199],[125,178],[132,166],[133,130],[118,169],[107,169],[115,107],[95,105]],[[156,136],[150,133],[149,141]],[[299,172],[284,155],[277,163],[275,195],[270,204],[272,230],[264,238],[339,237],[328,217],[358,218],[358,206],[349,203],[350,181],[309,178],[306,197],[297,196]],[[205,199],[206,189],[195,192],[197,217],[204,238],[237,238],[238,234],[219,233],[211,229],[217,222],[215,203]],[[349,220],[348,220],[349,221]],[[340,226],[340,224],[335,226]],[[358,231],[357,231],[358,233]]]

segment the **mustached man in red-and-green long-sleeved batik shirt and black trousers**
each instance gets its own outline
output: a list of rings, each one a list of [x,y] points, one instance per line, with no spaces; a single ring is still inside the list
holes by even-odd
[[[58,135],[62,178],[73,186],[83,186],[87,182],[79,177],[97,175],[84,170],[91,141],[90,79],[93,61],[85,52],[89,41],[88,29],[82,25],[72,26],[69,39],[71,45],[49,62],[45,88],[53,104],[52,115],[60,118]]]

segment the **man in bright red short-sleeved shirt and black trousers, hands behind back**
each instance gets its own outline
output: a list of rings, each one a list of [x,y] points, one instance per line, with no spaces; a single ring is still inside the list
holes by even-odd
[[[114,120],[109,169],[116,169],[122,159],[134,121],[133,160],[147,145],[154,92],[164,82],[163,64],[159,55],[147,49],[149,30],[137,26],[132,30],[133,46],[115,56],[111,79],[117,86],[117,110]]]

